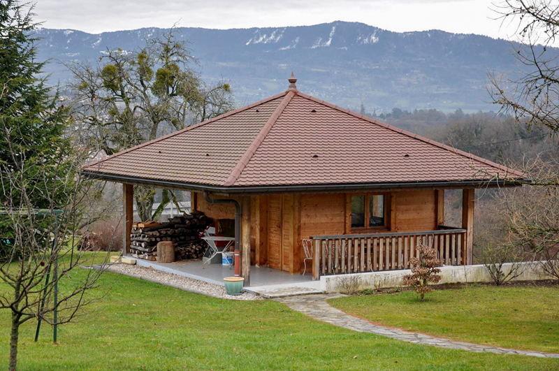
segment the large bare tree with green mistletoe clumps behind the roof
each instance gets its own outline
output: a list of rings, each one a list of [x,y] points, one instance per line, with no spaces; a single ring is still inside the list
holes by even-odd
[[[137,50],[107,50],[95,64],[73,62],[73,115],[86,126],[92,147],[114,154],[211,119],[233,108],[231,87],[210,85],[177,30],[145,41]],[[164,201],[173,199],[164,190]],[[141,219],[154,219],[155,190],[135,187]],[[163,205],[164,206],[164,205]]]

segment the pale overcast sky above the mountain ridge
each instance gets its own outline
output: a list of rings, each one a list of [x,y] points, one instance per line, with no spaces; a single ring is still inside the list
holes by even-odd
[[[501,0],[495,0],[501,1]],[[490,0],[37,0],[43,27],[91,33],[181,27],[228,29],[363,22],[390,31],[444,31],[509,38]]]

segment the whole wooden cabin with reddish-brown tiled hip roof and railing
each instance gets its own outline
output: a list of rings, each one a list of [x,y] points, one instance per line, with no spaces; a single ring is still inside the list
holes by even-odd
[[[84,166],[124,184],[124,246],[133,186],[144,184],[191,191],[192,210],[213,219],[234,219],[238,208],[235,273],[247,284],[251,265],[303,272],[303,240],[313,279],[409,268],[419,243],[447,265],[472,263],[474,190],[514,187],[523,173],[289,82],[286,92]],[[460,226],[444,224],[445,189],[463,189]]]

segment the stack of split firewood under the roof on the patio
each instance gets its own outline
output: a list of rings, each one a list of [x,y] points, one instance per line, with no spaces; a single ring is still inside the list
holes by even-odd
[[[201,258],[206,245],[200,233],[207,225],[208,217],[204,214],[173,217],[167,223],[135,223],[130,234],[130,252],[135,258],[157,261],[157,242],[171,241],[175,261]]]

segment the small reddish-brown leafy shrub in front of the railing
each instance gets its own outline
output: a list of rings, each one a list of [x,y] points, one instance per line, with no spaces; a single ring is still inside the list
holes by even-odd
[[[404,284],[414,286],[416,293],[421,295],[421,301],[425,300],[425,294],[430,293],[429,283],[436,284],[440,281],[438,275],[441,270],[437,268],[441,262],[437,259],[437,250],[426,245],[417,245],[419,258],[413,257],[409,262],[414,265],[412,274],[404,276]]]

